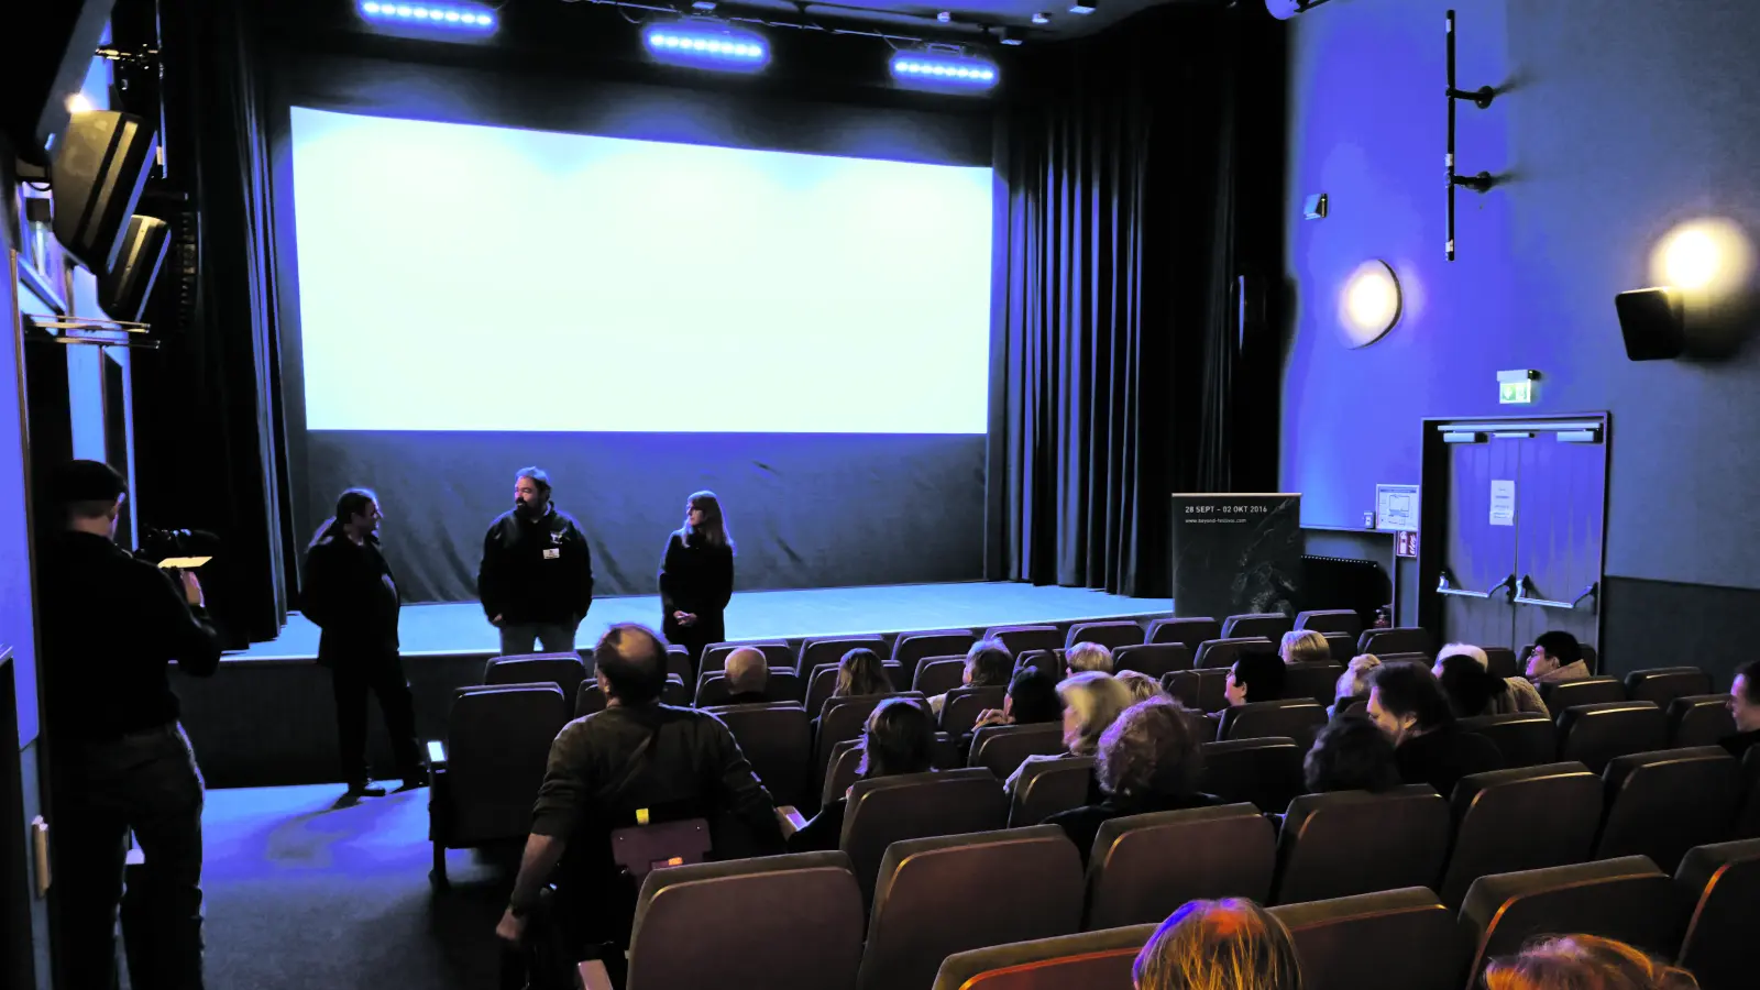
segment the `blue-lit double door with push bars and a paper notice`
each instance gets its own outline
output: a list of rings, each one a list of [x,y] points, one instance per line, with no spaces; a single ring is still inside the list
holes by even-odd
[[[1426,486],[1445,491],[1445,516],[1426,511],[1445,530],[1426,541],[1427,627],[1512,650],[1549,629],[1598,645],[1607,428],[1605,414],[1426,423]]]

